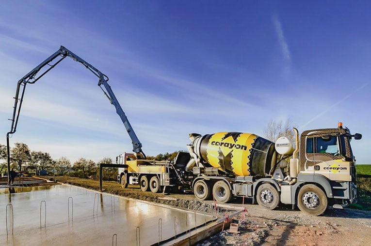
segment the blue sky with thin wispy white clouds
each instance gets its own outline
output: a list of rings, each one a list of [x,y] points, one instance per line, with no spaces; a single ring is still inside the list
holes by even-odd
[[[368,1],[1,1],[0,131],[16,82],[64,45],[110,78],[146,155],[188,134],[343,122],[371,163]],[[97,78],[65,59],[26,88],[11,143],[71,161],[131,152]]]

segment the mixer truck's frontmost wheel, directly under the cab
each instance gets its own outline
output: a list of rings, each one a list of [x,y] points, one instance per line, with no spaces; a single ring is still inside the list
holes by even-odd
[[[305,185],[298,193],[298,207],[303,213],[319,216],[327,208],[327,197],[323,190],[315,185]]]

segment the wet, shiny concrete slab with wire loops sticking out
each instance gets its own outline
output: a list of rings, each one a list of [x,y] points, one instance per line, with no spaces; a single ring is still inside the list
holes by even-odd
[[[9,246],[116,245],[114,234],[117,245],[152,245],[212,219],[69,185],[0,188],[0,207],[0,245]]]

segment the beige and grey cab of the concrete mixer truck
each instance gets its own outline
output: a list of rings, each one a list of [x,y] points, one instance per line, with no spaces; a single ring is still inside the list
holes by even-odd
[[[350,142],[361,137],[341,125],[304,131],[300,137],[298,182],[310,177],[326,193],[330,205],[356,203],[355,157]]]

